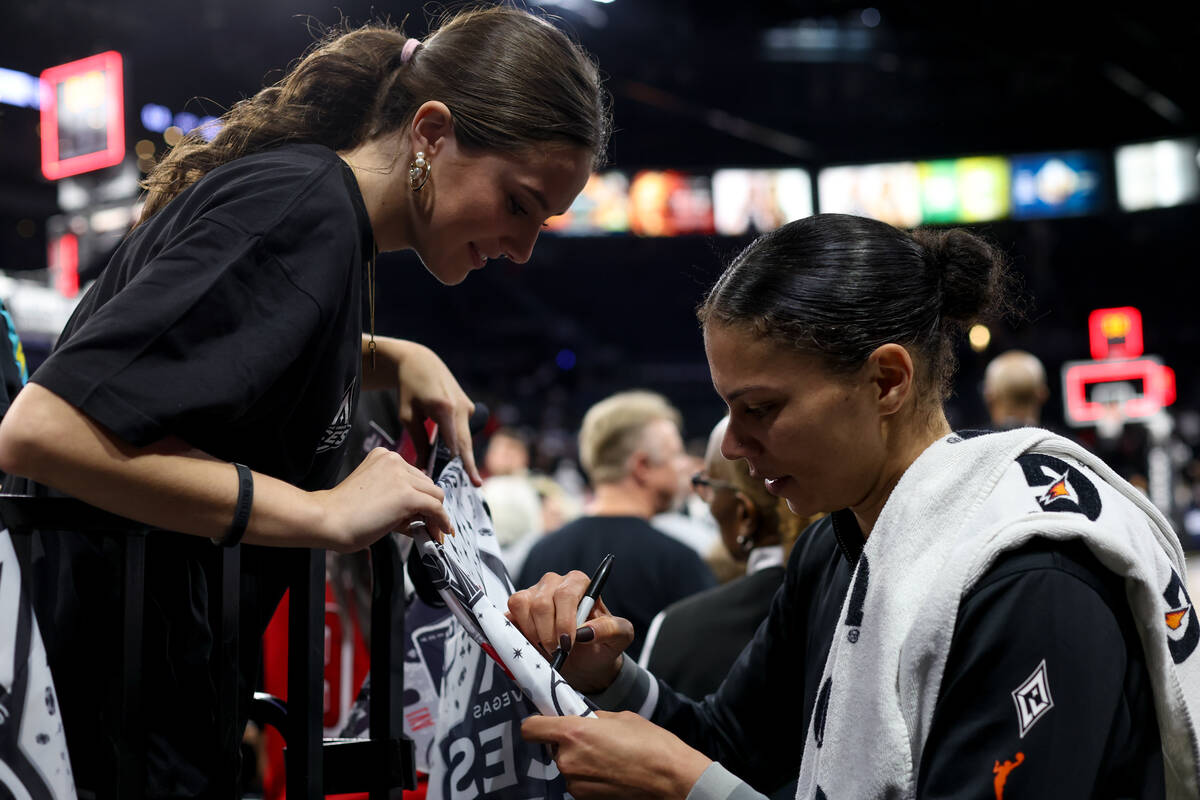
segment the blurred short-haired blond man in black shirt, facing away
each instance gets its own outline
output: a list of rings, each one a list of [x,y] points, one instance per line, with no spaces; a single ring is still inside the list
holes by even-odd
[[[661,396],[622,392],[592,407],[580,431],[580,458],[595,489],[590,513],[539,540],[517,587],[546,572],[590,573],[614,554],[604,601],[634,624],[626,652],[636,658],[655,614],[716,583],[694,549],[648,522],[673,505],[682,456],[679,411]]]

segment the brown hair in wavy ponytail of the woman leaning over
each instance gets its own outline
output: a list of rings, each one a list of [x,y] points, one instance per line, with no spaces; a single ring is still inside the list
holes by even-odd
[[[167,154],[143,181],[139,223],[234,158],[288,142],[352,149],[403,127],[430,100],[450,108],[463,148],[560,142],[602,162],[607,92],[588,55],[550,23],[496,6],[446,18],[402,64],[406,41],[385,23],[331,30],[277,84],[235,103],[212,142],[193,132]]]

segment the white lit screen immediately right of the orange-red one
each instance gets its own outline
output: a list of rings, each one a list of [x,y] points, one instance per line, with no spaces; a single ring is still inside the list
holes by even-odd
[[[803,169],[718,169],[713,173],[716,233],[767,233],[812,215],[812,180]]]

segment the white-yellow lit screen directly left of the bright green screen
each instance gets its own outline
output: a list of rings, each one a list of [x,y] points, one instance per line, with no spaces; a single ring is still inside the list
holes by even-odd
[[[920,224],[920,178],[914,162],[830,167],[817,175],[822,213],[854,213],[899,228]]]

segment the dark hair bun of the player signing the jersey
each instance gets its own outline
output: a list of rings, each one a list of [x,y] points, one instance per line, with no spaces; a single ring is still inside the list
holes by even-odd
[[[914,230],[912,237],[941,276],[942,319],[966,325],[1002,311],[1008,266],[1000,249],[961,228]]]

